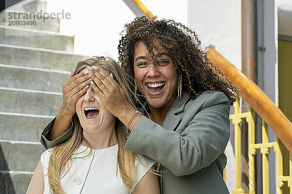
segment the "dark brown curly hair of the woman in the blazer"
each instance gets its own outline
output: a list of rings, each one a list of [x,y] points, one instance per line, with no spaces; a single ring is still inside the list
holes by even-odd
[[[175,69],[183,78],[183,90],[190,98],[199,97],[206,90],[223,92],[231,105],[238,100],[238,89],[208,59],[200,49],[201,41],[195,32],[174,20],[156,20],[146,16],[136,17],[125,25],[118,45],[119,63],[129,76],[131,90],[134,90],[134,49],[138,41],[143,41],[148,54],[153,59],[153,49],[166,49]]]

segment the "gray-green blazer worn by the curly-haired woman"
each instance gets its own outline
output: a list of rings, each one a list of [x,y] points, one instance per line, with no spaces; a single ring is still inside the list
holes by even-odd
[[[164,124],[142,116],[126,148],[161,164],[162,194],[229,194],[223,181],[230,135],[230,102],[222,92],[206,91],[196,99],[186,92],[172,103]],[[54,120],[41,135],[46,148],[66,141],[72,127],[53,142],[47,136]]]

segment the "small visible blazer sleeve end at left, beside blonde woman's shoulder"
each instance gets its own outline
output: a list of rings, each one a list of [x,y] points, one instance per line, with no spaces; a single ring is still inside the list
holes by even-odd
[[[70,128],[63,135],[61,135],[60,137],[58,137],[54,141],[49,141],[48,134],[49,134],[50,130],[52,129],[52,126],[55,122],[55,119],[56,119],[56,117],[50,121],[50,123],[42,130],[42,132],[40,134],[39,141],[40,141],[41,145],[44,146],[45,149],[49,149],[51,147],[58,146],[64,142],[66,142],[73,134],[73,122],[71,121]]]

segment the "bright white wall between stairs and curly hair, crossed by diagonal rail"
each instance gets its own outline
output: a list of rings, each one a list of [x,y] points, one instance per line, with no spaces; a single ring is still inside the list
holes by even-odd
[[[187,23],[187,0],[142,0],[153,15]],[[136,15],[123,0],[47,0],[47,12],[71,14],[61,19],[60,32],[72,34],[74,52],[118,58],[119,34]]]

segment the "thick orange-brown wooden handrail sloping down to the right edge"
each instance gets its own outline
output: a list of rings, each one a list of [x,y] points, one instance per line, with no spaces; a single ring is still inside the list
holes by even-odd
[[[213,47],[207,51],[211,62],[244,92],[242,97],[256,113],[274,130],[275,134],[292,153],[292,123],[274,102],[244,73],[227,61]]]

